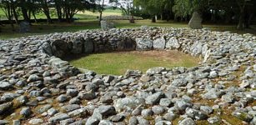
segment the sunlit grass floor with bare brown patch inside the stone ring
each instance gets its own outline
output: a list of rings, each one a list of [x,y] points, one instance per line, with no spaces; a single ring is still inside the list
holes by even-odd
[[[151,67],[194,67],[198,62],[198,57],[178,51],[95,53],[70,61],[75,67],[114,75],[123,75],[127,69],[146,72]]]

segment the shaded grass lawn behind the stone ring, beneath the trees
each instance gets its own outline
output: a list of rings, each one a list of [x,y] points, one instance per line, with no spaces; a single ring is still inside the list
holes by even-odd
[[[143,25],[148,25],[152,27],[164,27],[164,28],[187,28],[187,23],[173,23],[173,22],[165,22],[158,21],[158,23],[151,23],[150,20],[139,20],[136,23],[128,23],[128,21],[113,21],[117,28],[138,28]],[[256,35],[256,27],[254,26],[252,29],[238,31],[234,25],[216,25],[216,24],[204,24],[204,28],[211,28],[212,30],[217,31],[231,31],[238,33],[253,33]],[[76,32],[79,30],[85,29],[96,29],[100,28],[98,21],[95,19],[87,19],[87,20],[78,20],[74,23],[34,23],[31,26],[31,32],[20,33],[13,32],[9,25],[6,25],[2,28],[3,32],[0,32],[0,39],[8,39],[13,37],[26,37],[31,35],[39,35],[39,34],[48,34],[52,32]],[[18,30],[18,26],[16,26],[16,30]]]

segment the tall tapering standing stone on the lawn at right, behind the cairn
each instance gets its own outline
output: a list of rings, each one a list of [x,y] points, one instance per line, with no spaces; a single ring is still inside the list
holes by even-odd
[[[197,12],[193,13],[192,18],[190,19],[188,26],[193,29],[201,29],[203,19],[201,18],[200,14]]]

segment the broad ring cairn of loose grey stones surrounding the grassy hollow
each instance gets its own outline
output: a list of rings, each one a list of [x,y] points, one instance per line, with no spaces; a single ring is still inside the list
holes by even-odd
[[[255,41],[250,34],[148,27],[1,41],[0,123],[255,124]],[[81,73],[61,59],[135,49],[178,49],[203,63],[113,76]]]

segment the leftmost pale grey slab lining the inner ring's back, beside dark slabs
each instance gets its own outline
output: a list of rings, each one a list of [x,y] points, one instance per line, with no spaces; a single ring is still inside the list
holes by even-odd
[[[143,51],[143,50],[151,50],[153,47],[153,40],[149,38],[136,38],[136,50]]]

